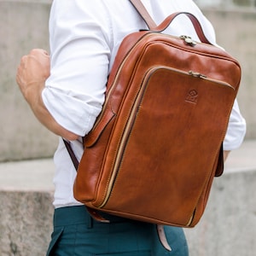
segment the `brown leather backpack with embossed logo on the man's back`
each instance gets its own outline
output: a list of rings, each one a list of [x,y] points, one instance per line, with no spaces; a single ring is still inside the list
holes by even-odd
[[[223,171],[240,79],[239,63],[211,44],[154,31],[128,35],[102,113],[84,138],[75,198],[125,218],[195,226]]]

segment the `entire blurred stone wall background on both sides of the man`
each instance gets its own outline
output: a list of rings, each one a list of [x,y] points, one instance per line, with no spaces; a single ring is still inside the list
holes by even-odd
[[[238,100],[247,137],[230,154],[231,172],[214,181],[201,223],[185,231],[191,256],[251,256],[256,250],[255,1],[196,2],[212,21],[218,44],[241,62]],[[49,49],[50,3],[0,0],[1,256],[43,256],[52,231],[54,165],[47,158],[54,154],[57,137],[34,118],[15,84],[20,57],[32,48]]]

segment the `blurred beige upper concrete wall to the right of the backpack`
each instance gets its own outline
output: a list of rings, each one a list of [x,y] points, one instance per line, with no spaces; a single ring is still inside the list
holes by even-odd
[[[241,87],[238,102],[247,119],[247,139],[256,138],[256,9],[232,11],[204,9],[216,30],[218,44],[241,64]]]

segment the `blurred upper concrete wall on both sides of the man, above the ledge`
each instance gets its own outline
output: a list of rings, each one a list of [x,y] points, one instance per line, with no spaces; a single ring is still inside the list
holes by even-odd
[[[34,118],[15,84],[20,57],[32,48],[49,49],[50,0],[0,0],[0,161],[51,156],[57,138]],[[247,119],[247,138],[256,138],[255,11],[203,9],[216,28],[218,44],[239,61],[243,70],[239,102]]]

